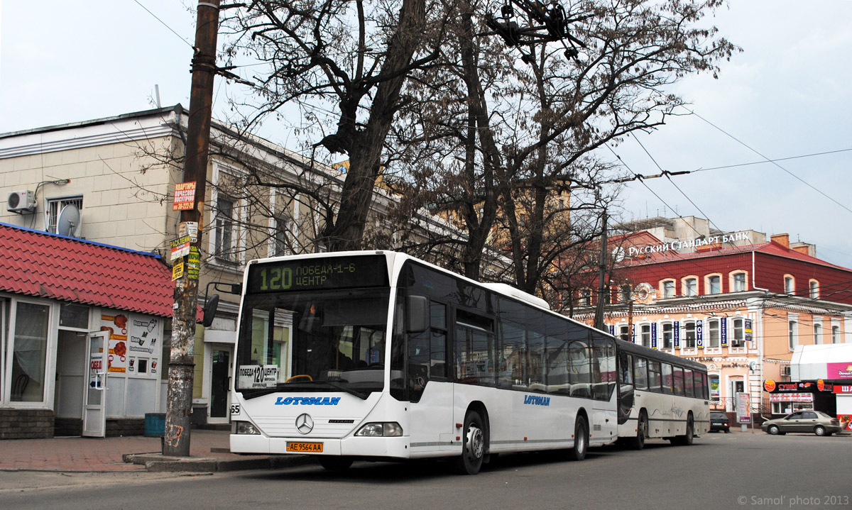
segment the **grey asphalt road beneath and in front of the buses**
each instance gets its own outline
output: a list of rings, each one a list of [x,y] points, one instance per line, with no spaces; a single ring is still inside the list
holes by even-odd
[[[849,508],[852,437],[712,433],[692,446],[501,456],[477,476],[440,462],[357,462],[216,474],[0,473],[0,507],[105,508]]]

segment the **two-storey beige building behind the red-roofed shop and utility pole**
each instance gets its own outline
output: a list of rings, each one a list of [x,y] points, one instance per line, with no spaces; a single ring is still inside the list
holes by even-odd
[[[0,222],[73,238],[153,252],[170,260],[179,213],[172,210],[181,181],[187,112],[180,105],[0,135]],[[240,283],[254,258],[313,252],[322,218],[320,202],[334,203],[345,169],[332,169],[213,123],[204,209],[199,304],[214,283]],[[298,185],[307,194],[293,191]],[[373,230],[392,198],[381,190]],[[63,210],[78,219],[57,225]],[[444,228],[440,221],[424,224]],[[391,236],[389,236],[391,237]],[[218,286],[227,289],[225,285]],[[221,294],[221,292],[220,292]],[[227,375],[239,296],[222,295],[210,328],[195,339],[193,422],[226,424]],[[170,324],[165,325],[166,348]],[[167,357],[165,357],[167,358]],[[164,391],[167,370],[162,370]],[[160,398],[164,411],[165,398]]]

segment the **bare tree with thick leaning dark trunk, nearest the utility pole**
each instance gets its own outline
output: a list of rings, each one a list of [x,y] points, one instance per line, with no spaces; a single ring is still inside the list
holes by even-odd
[[[296,105],[313,149],[348,158],[339,200],[323,210],[329,249],[362,246],[400,91],[435,60],[444,14],[440,0],[257,0],[223,20],[228,64],[260,65],[245,68],[256,93],[247,125]]]

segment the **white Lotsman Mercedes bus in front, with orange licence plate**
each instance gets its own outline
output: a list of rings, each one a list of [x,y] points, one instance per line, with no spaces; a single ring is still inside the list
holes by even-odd
[[[565,449],[582,460],[589,446],[619,437],[619,421],[625,433],[634,423],[632,437],[641,420],[625,407],[644,398],[631,382],[636,370],[618,388],[619,345],[630,347],[631,363],[636,352],[659,355],[508,285],[479,284],[408,255],[250,261],[231,451],[315,455],[329,469],[356,459],[453,457],[469,474],[504,452]],[[649,420],[679,416],[691,441],[687,416],[670,407],[655,402]]]

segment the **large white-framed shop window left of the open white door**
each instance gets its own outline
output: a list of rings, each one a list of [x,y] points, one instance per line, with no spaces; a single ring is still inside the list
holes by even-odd
[[[9,385],[11,402],[44,401],[47,387],[48,324],[50,307],[29,303],[13,302],[14,335],[9,346]]]

